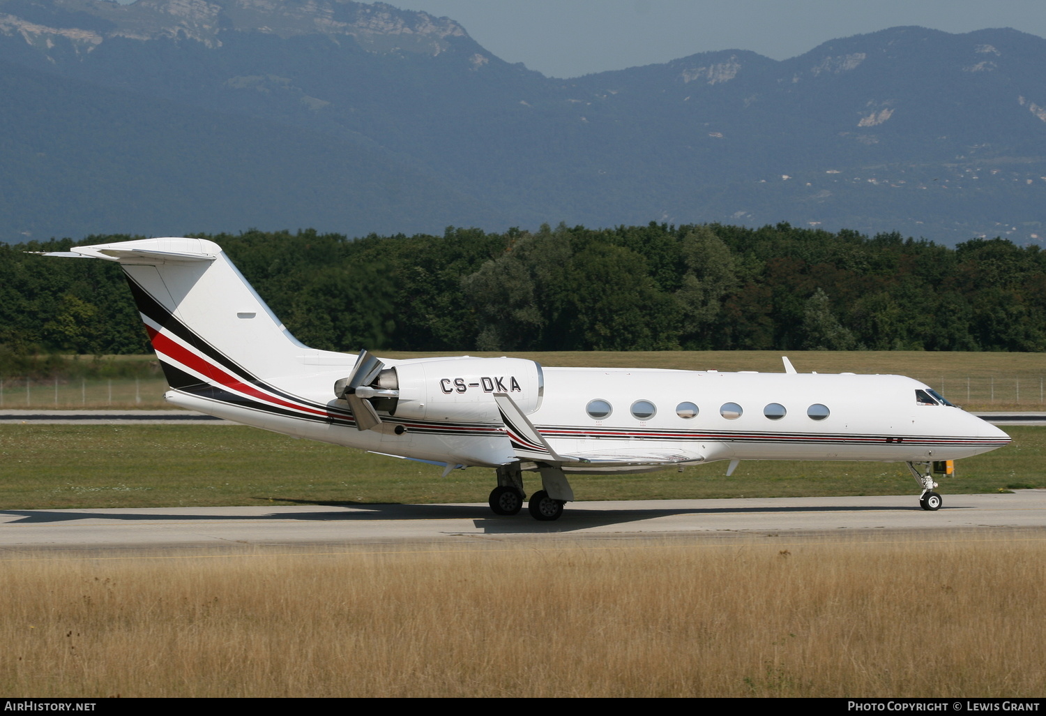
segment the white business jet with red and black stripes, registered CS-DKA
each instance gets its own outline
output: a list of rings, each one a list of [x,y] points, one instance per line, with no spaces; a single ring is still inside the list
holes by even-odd
[[[713,461],[905,462],[937,510],[935,474],[1009,443],[1002,430],[901,376],[542,367],[521,358],[379,359],[298,342],[221,247],[145,239],[47,255],[127,273],[180,407],[393,457],[497,471],[491,509],[554,520],[567,474]],[[333,393],[332,393],[333,388]]]

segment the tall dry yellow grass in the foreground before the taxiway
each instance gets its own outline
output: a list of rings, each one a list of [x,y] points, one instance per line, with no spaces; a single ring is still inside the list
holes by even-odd
[[[3,560],[3,696],[1042,696],[1046,535]]]

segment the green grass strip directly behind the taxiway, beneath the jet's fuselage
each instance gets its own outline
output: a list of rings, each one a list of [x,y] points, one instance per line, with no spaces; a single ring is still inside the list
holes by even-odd
[[[1046,487],[1046,428],[959,461],[940,492]],[[0,509],[481,502],[494,471],[440,469],[240,426],[2,425]],[[901,463],[743,462],[575,476],[579,500],[918,493]],[[532,491],[538,478],[528,478]]]

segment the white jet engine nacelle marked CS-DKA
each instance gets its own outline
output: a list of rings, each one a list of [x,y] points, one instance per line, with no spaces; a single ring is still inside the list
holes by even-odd
[[[522,358],[436,358],[396,363],[399,400],[391,415],[409,420],[497,422],[495,393],[527,415],[541,405],[541,365]]]

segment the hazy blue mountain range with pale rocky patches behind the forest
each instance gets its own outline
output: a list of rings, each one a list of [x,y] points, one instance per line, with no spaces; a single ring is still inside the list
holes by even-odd
[[[1046,239],[1046,40],[570,80],[349,0],[0,0],[0,240],[790,222]]]

